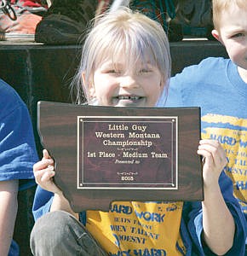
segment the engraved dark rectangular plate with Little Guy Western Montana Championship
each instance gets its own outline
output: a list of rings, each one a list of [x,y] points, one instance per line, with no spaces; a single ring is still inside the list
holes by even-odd
[[[178,189],[177,158],[176,117],[78,117],[78,189]]]

